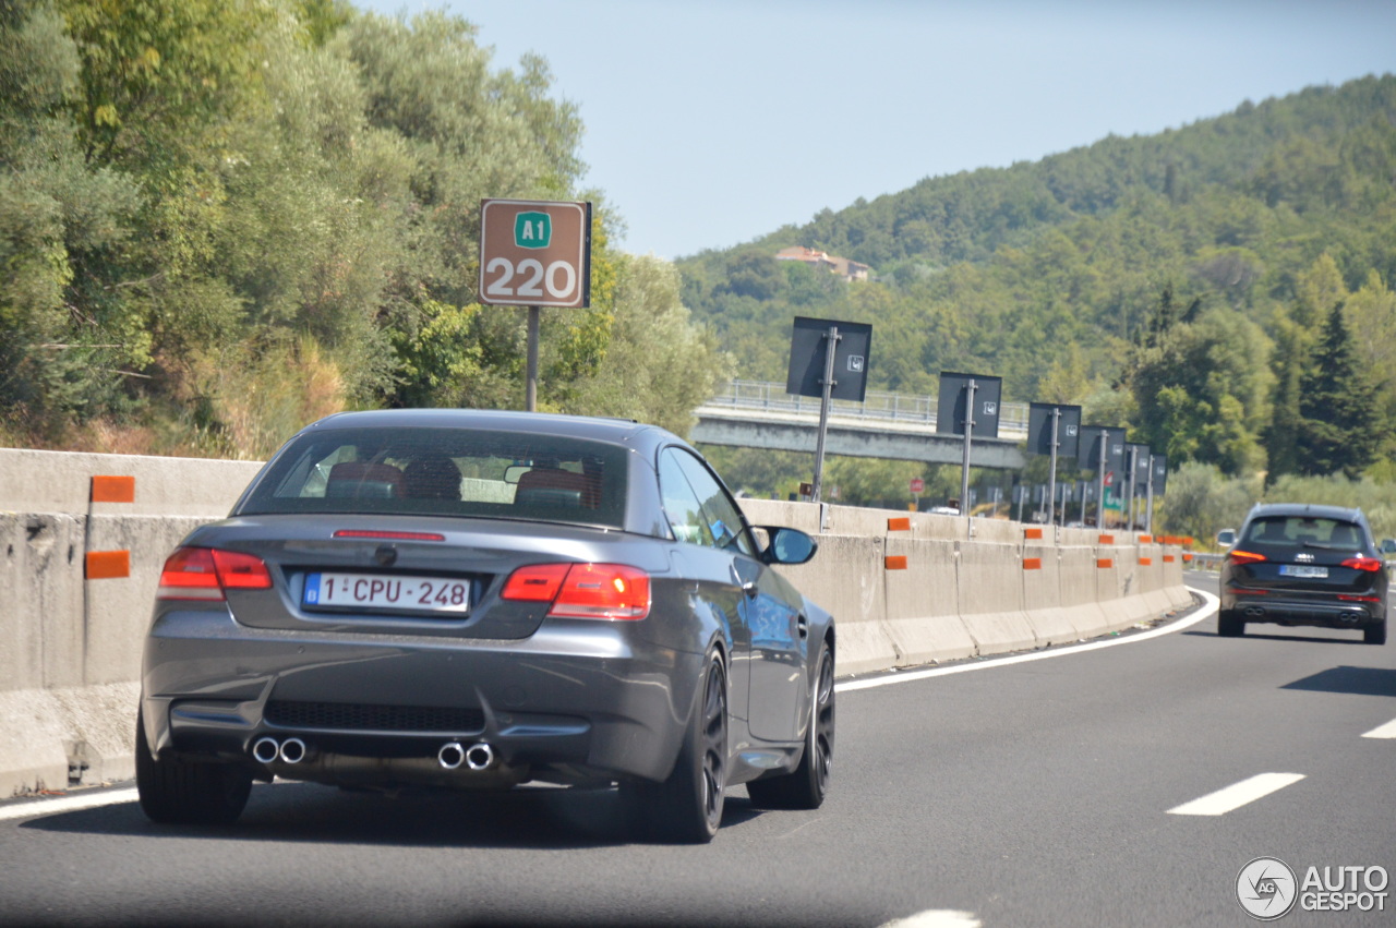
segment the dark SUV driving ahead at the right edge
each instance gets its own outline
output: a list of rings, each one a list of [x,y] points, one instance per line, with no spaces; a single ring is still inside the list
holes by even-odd
[[[1360,628],[1385,645],[1388,582],[1361,509],[1256,505],[1222,565],[1217,634],[1251,622]]]

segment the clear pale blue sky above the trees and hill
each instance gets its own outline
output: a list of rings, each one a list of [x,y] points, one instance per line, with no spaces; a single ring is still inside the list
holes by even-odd
[[[1396,71],[1396,0],[353,1],[450,10],[497,68],[546,57],[621,247],[664,258]]]

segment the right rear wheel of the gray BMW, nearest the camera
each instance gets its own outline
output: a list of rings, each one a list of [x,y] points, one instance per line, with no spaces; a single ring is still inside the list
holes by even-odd
[[[727,677],[709,659],[674,770],[663,783],[623,783],[638,825],[655,840],[706,844],[722,825],[727,786]]]

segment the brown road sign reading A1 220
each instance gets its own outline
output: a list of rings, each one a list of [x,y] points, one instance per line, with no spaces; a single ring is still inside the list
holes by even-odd
[[[591,306],[592,204],[480,201],[480,303]]]

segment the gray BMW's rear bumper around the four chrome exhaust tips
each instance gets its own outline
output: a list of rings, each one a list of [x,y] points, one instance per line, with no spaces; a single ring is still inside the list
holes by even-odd
[[[225,611],[172,610],[147,639],[147,738],[158,755],[339,784],[658,780],[677,756],[702,654],[630,632],[578,620],[521,641],[445,642],[251,629]],[[253,759],[268,737],[299,738],[306,756]],[[447,744],[487,744],[493,762],[445,769]]]

